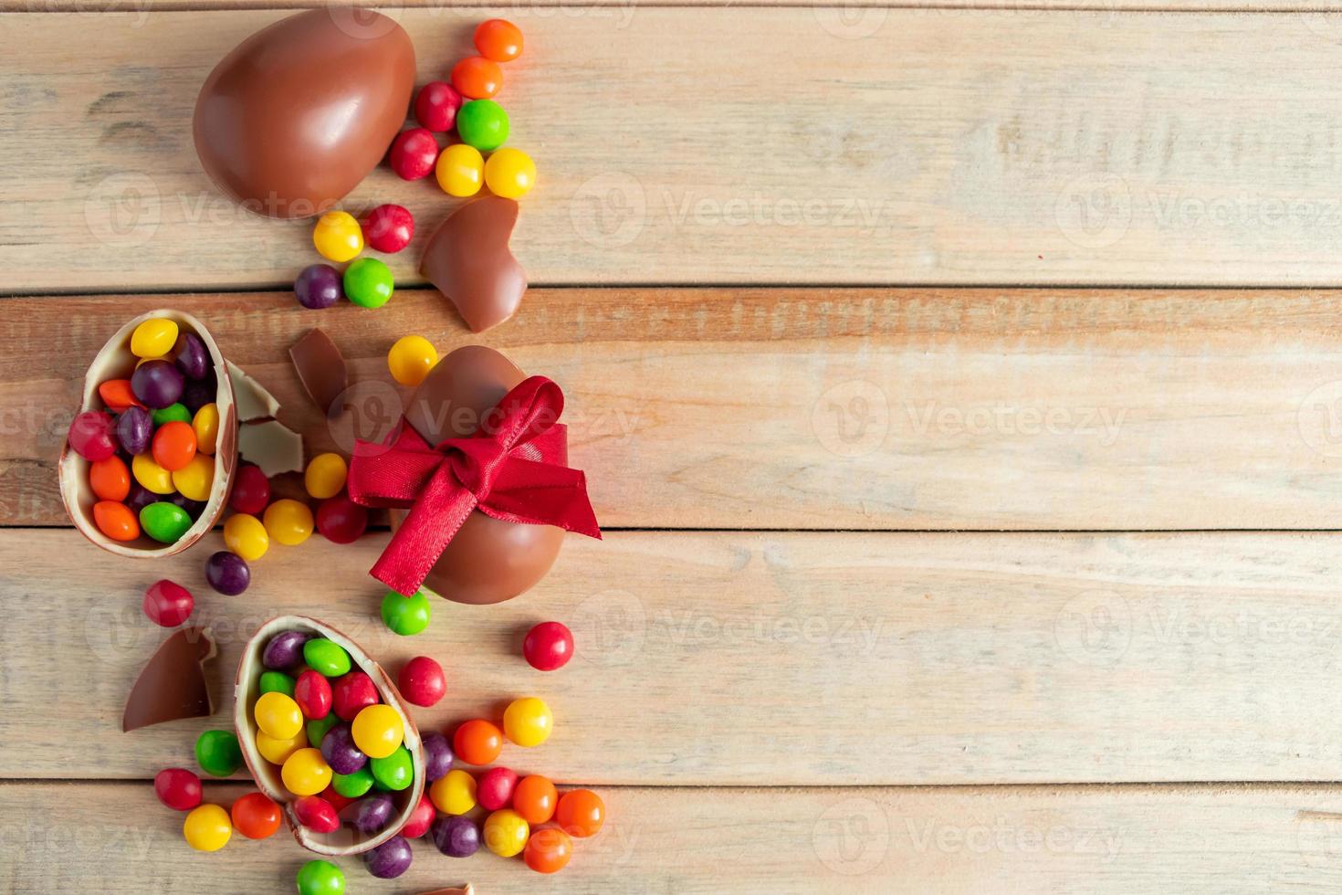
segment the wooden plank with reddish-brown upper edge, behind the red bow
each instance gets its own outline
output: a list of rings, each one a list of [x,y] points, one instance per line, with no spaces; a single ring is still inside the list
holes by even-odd
[[[611,527],[1342,518],[1337,293],[584,288],[533,291],[483,339],[425,293],[374,314],[302,313],[285,294],[9,299],[0,522],[66,522],[52,464],[83,366],[164,306],[208,321],[310,451],[350,445],[290,368],[309,326],[334,335],[384,413],[400,400],[384,361],[400,335],[493,345],[564,386],[573,462]]]

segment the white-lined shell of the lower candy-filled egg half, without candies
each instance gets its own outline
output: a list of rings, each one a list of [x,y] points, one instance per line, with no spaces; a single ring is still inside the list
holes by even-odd
[[[270,639],[282,631],[303,631],[317,637],[326,637],[344,647],[345,652],[349,653],[353,667],[373,679],[377,695],[401,717],[401,723],[405,727],[405,749],[411,753],[415,781],[401,792],[391,793],[396,802],[396,814],[378,833],[369,836],[344,824],[333,833],[317,833],[303,827],[298,823],[298,814],[294,812],[294,802],[298,797],[285,788],[285,782],[279,774],[279,765],[266,761],[256,749],[258,729],[251,708],[256,704],[256,699],[260,698],[260,675],[266,670],[264,664],[262,664],[262,653],[266,651],[266,644],[270,643]],[[247,645],[243,647],[243,656],[238,662],[238,679],[234,682],[234,726],[238,729],[238,743],[242,746],[243,761],[247,762],[247,769],[251,772],[252,780],[256,781],[256,788],[272,801],[285,806],[285,819],[289,821],[289,828],[294,833],[294,839],[298,840],[299,845],[318,855],[338,857],[341,855],[360,855],[370,848],[377,848],[400,832],[424,794],[423,742],[420,741],[419,727],[415,726],[415,721],[411,718],[401,694],[396,690],[392,679],[386,676],[386,672],[382,671],[382,667],[373,662],[357,643],[336,628],[322,624],[315,619],[307,616],[279,616],[263,624],[252,635],[251,640],[247,641]],[[321,743],[309,743],[309,746],[317,749]]]

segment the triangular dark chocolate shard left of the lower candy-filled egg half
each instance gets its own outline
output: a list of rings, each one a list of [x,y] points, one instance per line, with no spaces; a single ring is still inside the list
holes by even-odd
[[[215,641],[204,628],[181,628],[168,637],[136,679],[121,729],[126,733],[165,721],[213,714],[204,664]]]

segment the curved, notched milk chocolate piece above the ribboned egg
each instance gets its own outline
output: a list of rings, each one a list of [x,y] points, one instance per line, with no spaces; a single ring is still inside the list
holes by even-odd
[[[507,242],[517,224],[517,203],[483,196],[458,208],[424,247],[420,272],[480,333],[517,313],[526,291],[526,271]]]

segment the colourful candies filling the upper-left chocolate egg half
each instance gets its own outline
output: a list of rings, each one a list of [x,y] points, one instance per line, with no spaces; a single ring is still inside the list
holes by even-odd
[[[70,448],[89,460],[93,519],[113,541],[176,543],[205,510],[215,483],[219,389],[205,342],[168,318],[130,334],[129,378],[98,385],[101,411],[70,424]]]

